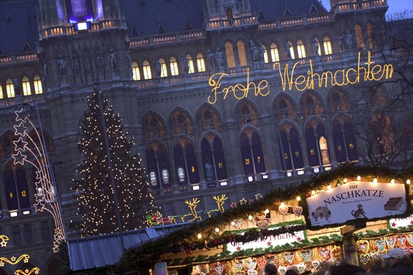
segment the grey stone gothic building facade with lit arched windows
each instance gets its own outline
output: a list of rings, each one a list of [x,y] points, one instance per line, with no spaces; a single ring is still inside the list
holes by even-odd
[[[393,121],[412,115],[382,112],[395,99],[412,105],[391,81],[403,62],[412,76],[392,29],[411,19],[386,21],[385,0],[330,2],[1,1],[0,234],[10,240],[0,255],[29,254],[30,263],[0,274],[56,274],[59,265],[53,218],[33,206],[34,169],[12,158],[21,109],[33,122],[28,136],[41,124],[26,141],[47,148],[68,238],[78,236],[78,123],[94,89],[134,138],[164,216],[187,214],[192,198],[207,212],[226,194],[226,209],[339,163],[388,161]],[[381,71],[369,76],[368,63]],[[410,144],[411,125],[401,129]]]

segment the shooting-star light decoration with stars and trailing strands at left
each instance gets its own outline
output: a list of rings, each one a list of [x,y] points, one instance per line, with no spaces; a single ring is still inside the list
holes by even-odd
[[[54,182],[54,174],[52,165],[47,156],[46,145],[44,143],[44,136],[34,126],[29,119],[29,114],[22,108],[20,111],[14,112],[16,114],[16,123],[14,125],[14,134],[19,137],[14,143],[14,151],[12,154],[14,164],[29,163],[36,169],[36,194],[34,207],[36,212],[47,211],[52,214],[54,219],[54,243],[53,252],[59,251],[59,245],[65,241],[65,228],[63,226],[63,218],[58,197],[56,194],[56,183]],[[31,134],[28,134],[28,128],[32,128]],[[23,141],[23,138],[32,143],[32,148],[28,146],[28,142]]]

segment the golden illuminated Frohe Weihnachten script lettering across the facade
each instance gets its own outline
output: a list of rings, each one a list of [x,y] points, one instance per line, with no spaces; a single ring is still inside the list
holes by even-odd
[[[299,65],[300,61],[297,61],[293,68],[289,68],[288,63],[284,65],[284,71],[282,65],[277,62],[273,65],[273,70],[276,75],[281,79],[282,90],[298,90],[299,92],[306,89],[314,89],[315,87],[327,87],[330,86],[343,86],[349,84],[355,84],[362,81],[380,81],[381,79],[390,79],[393,74],[392,64],[375,64],[370,59],[370,52],[368,52],[367,62],[360,64],[360,52],[357,62],[357,67],[343,68],[340,70],[326,71],[317,73],[313,71],[313,61],[310,59],[309,68],[306,72],[306,76],[300,74],[295,75],[295,69]],[[224,99],[228,94],[233,94],[235,99],[244,99],[248,96],[248,92],[254,92],[255,96],[267,96],[270,94],[270,85],[268,80],[262,79],[258,81],[251,81],[249,78],[249,70],[246,70],[246,83],[235,83],[229,85],[226,88],[222,87],[222,82],[226,81],[225,77],[229,74],[218,72],[209,77],[209,86],[211,94],[208,96],[208,102],[215,104],[217,102],[217,94],[224,94]]]

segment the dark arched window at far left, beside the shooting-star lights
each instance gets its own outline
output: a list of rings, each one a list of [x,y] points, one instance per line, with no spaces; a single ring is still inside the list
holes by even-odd
[[[8,211],[29,210],[30,194],[24,167],[10,163],[6,166],[3,175]]]

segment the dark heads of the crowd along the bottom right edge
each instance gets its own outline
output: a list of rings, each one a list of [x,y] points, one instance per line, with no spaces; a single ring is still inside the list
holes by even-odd
[[[393,248],[388,254],[380,258],[373,258],[370,269],[366,270],[357,265],[350,265],[343,261],[340,265],[326,267],[317,273],[310,271],[301,275],[413,275],[413,253],[405,254],[401,248]],[[268,263],[265,266],[265,275],[277,275],[277,266]],[[287,270],[285,275],[300,275],[294,268]]]

